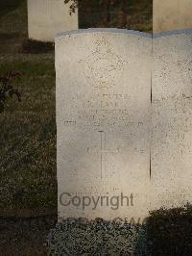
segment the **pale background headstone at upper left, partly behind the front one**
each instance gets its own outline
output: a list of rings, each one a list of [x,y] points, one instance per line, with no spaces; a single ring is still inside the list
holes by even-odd
[[[28,0],[29,38],[54,41],[58,33],[78,29],[78,11],[69,13],[63,0]]]

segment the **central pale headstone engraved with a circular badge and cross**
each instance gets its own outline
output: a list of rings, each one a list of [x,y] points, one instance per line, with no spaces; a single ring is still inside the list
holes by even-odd
[[[148,215],[152,38],[56,38],[59,218]]]

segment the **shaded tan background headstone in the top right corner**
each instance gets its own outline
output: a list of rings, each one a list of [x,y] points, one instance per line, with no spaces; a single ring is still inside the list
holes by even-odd
[[[154,0],[154,33],[192,28],[191,0]]]

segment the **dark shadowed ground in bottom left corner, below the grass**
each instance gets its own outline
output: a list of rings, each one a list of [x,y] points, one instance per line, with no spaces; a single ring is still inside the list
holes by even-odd
[[[47,255],[44,246],[57,215],[36,218],[0,218],[0,253],[4,256]]]

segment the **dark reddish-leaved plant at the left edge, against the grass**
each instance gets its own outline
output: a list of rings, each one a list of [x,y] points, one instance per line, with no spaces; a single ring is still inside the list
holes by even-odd
[[[19,79],[21,74],[18,72],[8,72],[7,74],[0,76],[0,113],[5,110],[6,102],[9,98],[16,96],[17,100],[21,101],[21,95],[18,90],[14,90],[12,87],[12,80]]]

